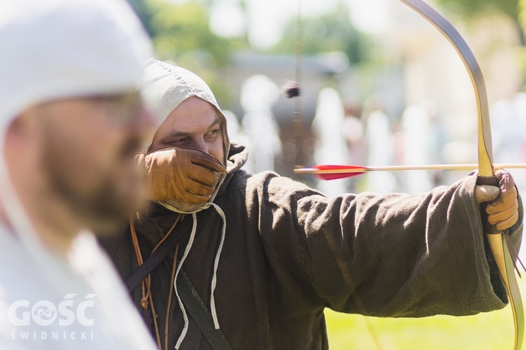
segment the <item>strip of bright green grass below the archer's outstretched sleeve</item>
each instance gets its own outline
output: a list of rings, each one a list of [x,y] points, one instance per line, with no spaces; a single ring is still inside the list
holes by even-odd
[[[518,284],[526,299],[526,277]],[[512,350],[514,344],[509,305],[464,317],[375,318],[331,310],[325,315],[331,350]]]

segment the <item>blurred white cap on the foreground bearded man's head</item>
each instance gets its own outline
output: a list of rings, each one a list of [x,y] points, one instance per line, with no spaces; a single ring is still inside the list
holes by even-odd
[[[0,0],[0,130],[61,97],[138,89],[151,40],[124,0]]]

